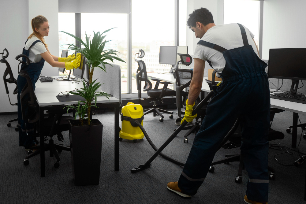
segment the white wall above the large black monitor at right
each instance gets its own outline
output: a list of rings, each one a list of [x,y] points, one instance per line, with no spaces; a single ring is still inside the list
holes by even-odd
[[[263,5],[263,59],[270,48],[306,47],[306,1],[265,0]]]

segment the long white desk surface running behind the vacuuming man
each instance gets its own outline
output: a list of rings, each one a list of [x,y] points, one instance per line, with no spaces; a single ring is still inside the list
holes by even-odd
[[[167,81],[170,83],[175,83],[175,79],[172,74],[147,73],[147,76],[150,78],[159,79],[159,80]],[[203,84],[202,84],[201,91],[209,92],[210,89],[209,89],[208,84],[205,82],[205,79],[208,79],[208,77],[203,78]],[[275,89],[270,89],[270,90],[275,91]],[[306,115],[306,104],[296,103],[296,102],[291,102],[291,101],[284,101],[284,100],[279,100],[276,98],[271,98],[270,104],[271,104],[271,107]]]

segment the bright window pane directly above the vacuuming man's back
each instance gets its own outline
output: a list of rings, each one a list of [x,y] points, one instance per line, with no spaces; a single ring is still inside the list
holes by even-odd
[[[258,46],[259,37],[259,3],[255,0],[224,0],[224,24],[240,23],[255,36]]]

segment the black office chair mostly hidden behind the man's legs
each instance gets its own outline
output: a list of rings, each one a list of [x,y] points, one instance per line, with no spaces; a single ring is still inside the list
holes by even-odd
[[[217,71],[213,71],[212,73],[212,80],[205,80],[210,89],[212,89],[212,86],[217,85],[218,83],[215,82],[215,73]],[[275,131],[271,128],[272,125],[272,121],[274,118],[275,113],[281,113],[284,110],[282,109],[277,109],[277,108],[271,108],[270,109],[270,127],[269,127],[269,135],[268,135],[268,141],[272,141],[272,140],[276,140],[276,139],[284,139],[285,135],[282,132],[279,131]],[[239,126],[239,123],[236,124],[235,127],[235,132],[233,133],[233,135],[229,138],[229,143],[224,144],[222,147],[224,149],[232,149],[232,148],[236,148],[236,147],[240,147],[241,146],[241,127]],[[213,163],[211,163],[211,166],[209,168],[209,172],[214,172],[215,171],[215,167],[214,165],[217,164],[229,164],[230,162],[233,161],[239,161],[239,167],[238,167],[238,173],[237,176],[235,178],[235,182],[238,184],[241,184],[242,182],[242,170],[244,169],[244,164],[243,164],[243,158],[241,157],[241,154],[226,154],[225,155],[225,159],[221,159],[218,161],[215,161]],[[271,168],[270,166],[268,166],[268,171],[270,171],[271,173],[269,174],[269,179],[270,180],[275,180],[275,169]]]

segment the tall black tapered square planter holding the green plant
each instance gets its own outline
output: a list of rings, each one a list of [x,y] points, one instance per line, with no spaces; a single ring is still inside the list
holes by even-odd
[[[73,179],[76,186],[97,185],[100,180],[103,124],[78,126],[79,120],[69,121],[69,139]],[[87,124],[87,120],[84,120]]]

